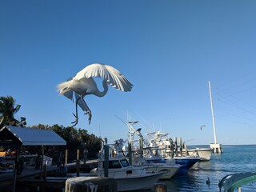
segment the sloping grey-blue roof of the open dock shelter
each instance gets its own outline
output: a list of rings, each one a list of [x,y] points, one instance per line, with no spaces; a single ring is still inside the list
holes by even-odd
[[[19,126],[3,126],[0,130],[0,143],[13,143],[18,146],[66,146],[66,141],[54,130]]]

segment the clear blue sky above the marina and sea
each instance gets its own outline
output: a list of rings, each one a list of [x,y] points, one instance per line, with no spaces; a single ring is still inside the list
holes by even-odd
[[[85,98],[77,128],[126,138],[126,113],[142,132],[162,130],[189,145],[256,143],[256,1],[0,1],[0,96],[21,104],[28,126],[70,126],[74,103],[58,83],[94,62],[134,84]],[[118,116],[118,118],[116,117]],[[206,125],[203,130],[200,126]],[[141,125],[140,125],[141,126]]]

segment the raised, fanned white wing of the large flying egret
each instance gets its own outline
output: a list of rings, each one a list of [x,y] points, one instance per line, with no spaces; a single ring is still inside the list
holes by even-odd
[[[98,63],[86,66],[86,68],[78,72],[74,80],[79,81],[82,78],[91,77],[105,78],[110,86],[122,91],[130,91],[133,86],[133,84],[114,67]]]

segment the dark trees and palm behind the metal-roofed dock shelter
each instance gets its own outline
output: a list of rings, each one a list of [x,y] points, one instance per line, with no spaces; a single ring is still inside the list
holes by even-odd
[[[18,113],[21,108],[21,105],[15,102],[16,100],[11,96],[0,97],[0,128],[2,126],[26,126],[26,118],[21,118],[21,121],[14,118],[14,114]],[[41,130],[54,130],[66,141],[66,149],[69,151],[68,159],[76,159],[77,150],[87,150],[88,158],[97,158],[101,138],[94,134],[88,134],[87,130],[76,129],[73,126],[59,126],[58,124],[53,126],[38,124],[31,127]],[[26,150],[29,150],[31,154],[36,154],[40,150],[40,146],[27,147]],[[58,158],[63,150],[63,147],[60,146],[45,146],[45,153],[52,158]]]

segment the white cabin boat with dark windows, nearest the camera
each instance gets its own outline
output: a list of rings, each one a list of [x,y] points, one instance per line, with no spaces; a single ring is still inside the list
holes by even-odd
[[[130,166],[126,158],[109,158],[108,177],[118,182],[118,191],[150,190],[162,177],[164,171],[150,172],[143,166]],[[104,177],[104,161],[99,160],[98,168],[90,171],[90,176]]]

